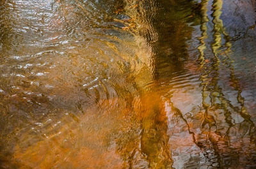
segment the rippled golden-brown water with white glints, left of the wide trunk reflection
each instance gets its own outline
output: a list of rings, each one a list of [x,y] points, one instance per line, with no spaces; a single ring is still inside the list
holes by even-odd
[[[17,41],[1,61],[1,161],[13,156],[6,166],[95,168],[112,154],[122,165],[115,146],[106,151],[102,142],[120,125],[115,119],[124,115],[126,94],[138,94],[129,76],[140,66],[135,35],[106,27],[101,7],[89,1],[15,7],[20,24],[13,22],[8,36]]]

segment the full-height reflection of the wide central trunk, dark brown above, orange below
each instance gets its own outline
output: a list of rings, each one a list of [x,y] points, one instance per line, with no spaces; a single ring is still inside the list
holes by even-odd
[[[192,31],[184,21],[191,13],[191,5],[187,1],[127,2],[129,15],[137,19],[140,34],[147,41],[148,48],[152,49],[152,79],[144,84],[145,87],[141,86],[144,89],[140,92],[141,108],[138,109],[141,111],[138,114],[141,117],[140,141],[129,156],[129,168],[140,166],[136,161],[138,153],[147,160],[150,168],[172,168],[166,112],[173,107],[168,103],[169,98],[165,98],[171,87],[164,89],[161,84],[166,85],[173,72],[183,71],[182,64],[188,56],[186,40],[191,37]],[[147,166],[147,163],[141,162],[141,167]]]

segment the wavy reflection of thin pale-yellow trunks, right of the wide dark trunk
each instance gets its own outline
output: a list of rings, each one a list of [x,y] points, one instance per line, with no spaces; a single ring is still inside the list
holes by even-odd
[[[198,144],[205,151],[205,156],[209,161],[214,161],[212,165],[218,167],[228,167],[243,165],[239,163],[239,155],[236,151],[240,149],[239,145],[236,145],[232,151],[230,143],[236,142],[232,140],[232,135],[234,136],[234,128],[236,126],[246,126],[245,131],[243,129],[240,132],[250,133],[253,122],[250,120],[250,115],[246,112],[244,107],[244,98],[241,97],[241,89],[239,87],[239,78],[234,75],[234,66],[232,65],[232,59],[230,58],[230,48],[232,47],[230,43],[230,36],[226,33],[223,27],[223,20],[220,19],[222,1],[212,2],[212,23],[213,25],[213,40],[211,44],[212,54],[214,57],[207,56],[207,62],[211,60],[212,64],[205,63],[204,50],[205,50],[205,39],[210,36],[207,34],[207,6],[208,1],[202,1],[202,37],[200,42],[202,45],[198,47],[200,50],[200,60],[201,68],[203,68],[204,73],[201,75],[202,80],[202,98],[204,107],[204,116],[202,117],[202,126],[200,134],[196,135],[196,144]],[[209,29],[209,28],[208,28]],[[208,31],[209,33],[209,31]],[[223,37],[223,38],[222,38]],[[225,43],[223,44],[223,41]],[[220,80],[225,80],[220,77],[220,70],[226,69],[230,72],[230,77],[228,80],[232,83],[230,86],[234,87],[234,91],[237,92],[237,103],[239,105],[233,105],[229,101],[223,90],[218,85]],[[237,116],[237,118],[236,118]],[[234,119],[233,119],[234,118]],[[243,124],[242,124],[243,123]],[[244,128],[244,127],[242,127]],[[249,129],[250,128],[250,129]],[[249,129],[249,130],[248,130]],[[233,131],[232,131],[233,130]],[[254,130],[254,129],[253,129]],[[249,134],[250,135],[250,134]],[[206,138],[205,140],[202,138]]]

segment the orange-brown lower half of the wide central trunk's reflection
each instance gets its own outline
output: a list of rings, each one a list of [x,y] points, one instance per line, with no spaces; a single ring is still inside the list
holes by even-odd
[[[172,168],[164,101],[157,92],[148,92],[141,96],[141,104],[141,152],[147,156],[150,167]]]

